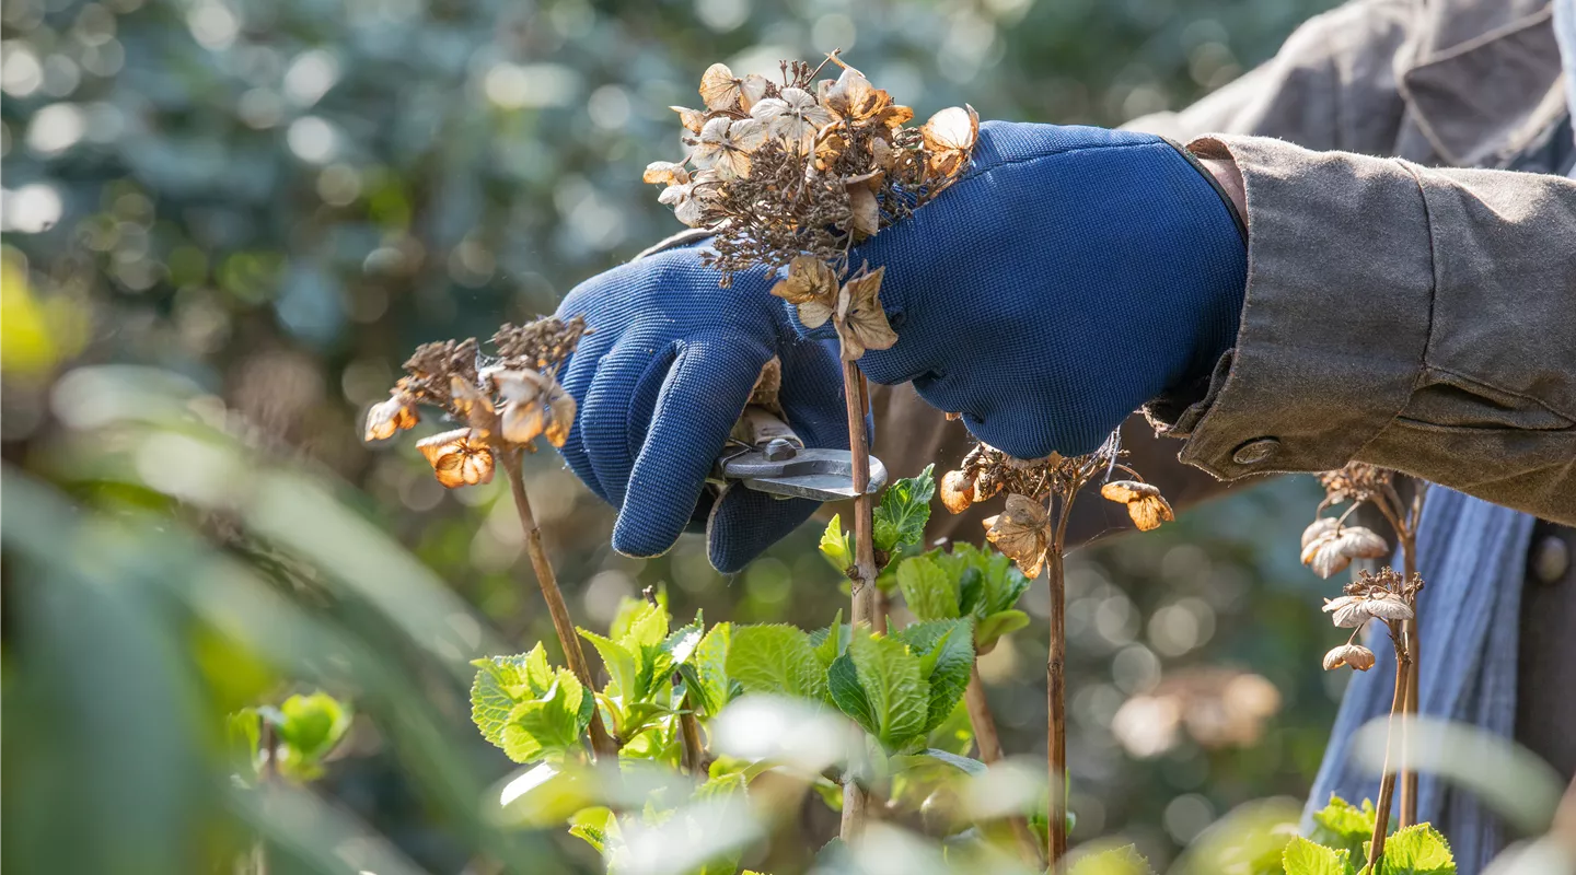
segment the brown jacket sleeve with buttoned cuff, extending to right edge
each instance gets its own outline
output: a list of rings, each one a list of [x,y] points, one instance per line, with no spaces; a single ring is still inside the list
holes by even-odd
[[[1207,137],[1248,290],[1207,395],[1160,419],[1221,478],[1362,460],[1576,524],[1576,181]]]

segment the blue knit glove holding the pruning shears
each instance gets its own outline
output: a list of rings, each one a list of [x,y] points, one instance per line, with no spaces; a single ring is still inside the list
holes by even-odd
[[[559,371],[580,403],[564,460],[618,508],[613,549],[665,552],[684,530],[706,530],[712,567],[731,573],[818,507],[704,485],[761,367],[782,359],[780,401],[810,447],[848,449],[835,348],[799,338],[761,271],[719,288],[701,250],[673,249],[575,286],[559,316],[593,332]]]

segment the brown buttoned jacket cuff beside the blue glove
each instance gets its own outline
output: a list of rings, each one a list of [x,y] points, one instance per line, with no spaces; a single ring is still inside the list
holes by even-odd
[[[1242,170],[1248,288],[1236,348],[1198,389],[1146,408],[1179,458],[1221,478],[1329,471],[1406,406],[1423,370],[1434,264],[1398,161],[1266,137],[1193,140]]]

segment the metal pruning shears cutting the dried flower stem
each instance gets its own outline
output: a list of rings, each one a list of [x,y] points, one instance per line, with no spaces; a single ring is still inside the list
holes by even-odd
[[[744,408],[709,480],[738,483],[780,499],[835,502],[857,496],[851,452],[805,447],[786,422],[758,404]],[[870,456],[865,494],[879,493],[886,482],[886,466]]]

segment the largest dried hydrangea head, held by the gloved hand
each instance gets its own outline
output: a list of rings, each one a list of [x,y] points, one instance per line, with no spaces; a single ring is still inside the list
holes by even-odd
[[[843,359],[897,343],[879,304],[883,269],[853,269],[851,247],[906,217],[968,167],[979,116],[938,112],[906,127],[914,110],[842,68],[783,61],[782,82],[734,76],[711,65],[700,82],[703,110],[673,107],[684,126],[681,161],[657,161],[645,181],[692,228],[712,231],[703,258],[731,275],[788,269],[774,294],[799,308],[807,327],[827,321]]]

